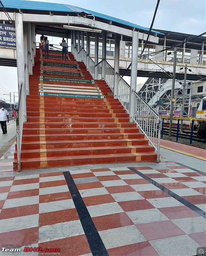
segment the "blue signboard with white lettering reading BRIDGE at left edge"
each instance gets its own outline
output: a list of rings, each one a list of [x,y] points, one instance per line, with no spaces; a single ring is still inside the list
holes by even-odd
[[[16,48],[16,31],[13,25],[0,23],[0,47]]]

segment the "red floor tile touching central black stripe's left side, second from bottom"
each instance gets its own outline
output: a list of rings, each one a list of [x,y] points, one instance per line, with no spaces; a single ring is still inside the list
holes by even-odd
[[[78,219],[79,216],[75,208],[39,213],[39,227]]]

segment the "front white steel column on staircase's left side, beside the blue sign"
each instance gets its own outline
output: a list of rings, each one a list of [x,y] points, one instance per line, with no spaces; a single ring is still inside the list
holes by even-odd
[[[26,93],[25,93],[25,71],[24,71],[24,39],[23,39],[23,21],[22,13],[15,13],[15,28],[16,28],[16,57],[17,57],[17,76],[18,76],[18,92],[20,96],[20,89],[22,84],[22,105],[24,122],[27,121],[26,109]]]

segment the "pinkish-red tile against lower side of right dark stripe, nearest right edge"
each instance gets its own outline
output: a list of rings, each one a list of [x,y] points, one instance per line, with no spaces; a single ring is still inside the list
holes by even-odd
[[[185,205],[158,208],[158,210],[162,212],[170,220],[200,216],[198,213],[194,212]]]

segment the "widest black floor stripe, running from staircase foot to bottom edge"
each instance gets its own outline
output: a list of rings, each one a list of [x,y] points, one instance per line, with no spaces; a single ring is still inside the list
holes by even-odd
[[[70,172],[63,172],[93,256],[109,256]]]

